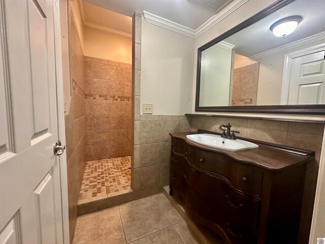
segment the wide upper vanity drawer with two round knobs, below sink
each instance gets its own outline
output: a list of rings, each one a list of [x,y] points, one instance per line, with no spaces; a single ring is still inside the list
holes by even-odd
[[[200,169],[218,174],[228,179],[232,186],[261,196],[263,172],[239,164],[230,158],[196,149],[194,165]]]

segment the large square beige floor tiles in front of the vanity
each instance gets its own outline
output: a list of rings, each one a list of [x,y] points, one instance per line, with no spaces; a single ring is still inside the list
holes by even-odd
[[[73,244],[196,244],[167,197],[157,194],[78,217]]]

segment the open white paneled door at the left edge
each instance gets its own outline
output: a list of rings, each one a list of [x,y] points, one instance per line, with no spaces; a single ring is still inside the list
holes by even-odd
[[[0,243],[63,243],[52,1],[0,1],[0,37]]]

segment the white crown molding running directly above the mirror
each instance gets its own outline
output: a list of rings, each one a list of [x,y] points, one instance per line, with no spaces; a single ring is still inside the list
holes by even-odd
[[[203,23],[199,28],[195,31],[195,38],[198,38],[203,33],[208,31],[213,25],[220,22],[222,19],[233,13],[235,10],[237,10],[239,7],[241,7],[243,4],[248,2],[249,0],[234,0],[232,3],[224,7],[220,12],[213,15],[210,19],[208,19],[205,23]]]

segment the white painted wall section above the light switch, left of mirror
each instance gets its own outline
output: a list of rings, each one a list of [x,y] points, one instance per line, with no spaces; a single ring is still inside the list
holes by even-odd
[[[141,114],[143,103],[153,114],[189,113],[194,39],[141,22]]]

